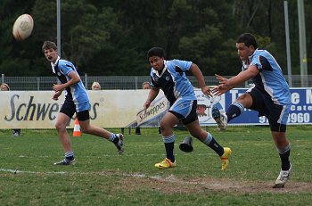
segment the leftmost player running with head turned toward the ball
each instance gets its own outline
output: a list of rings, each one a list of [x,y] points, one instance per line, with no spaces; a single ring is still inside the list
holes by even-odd
[[[65,93],[65,101],[62,104],[55,124],[55,128],[57,129],[65,151],[65,159],[54,164],[75,164],[74,152],[71,150],[70,145],[70,136],[66,130],[66,126],[75,113],[77,114],[82,132],[108,139],[116,145],[119,154],[121,154],[124,151],[122,134],[114,134],[104,128],[94,127],[90,124],[89,97],[75,66],[69,61],[60,59],[57,54],[57,47],[53,42],[45,41],[42,46],[42,51],[45,54],[46,60],[51,62],[53,74],[59,78],[61,82],[60,85],[53,85],[53,90],[55,92],[53,100],[58,100],[63,91]]]

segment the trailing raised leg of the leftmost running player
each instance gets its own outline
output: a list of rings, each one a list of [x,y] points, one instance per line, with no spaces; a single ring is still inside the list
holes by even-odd
[[[114,134],[104,128],[94,127],[90,124],[89,111],[79,111],[77,113],[81,132],[93,136],[100,136],[111,141],[117,147],[117,152],[122,154],[124,152],[123,135]]]

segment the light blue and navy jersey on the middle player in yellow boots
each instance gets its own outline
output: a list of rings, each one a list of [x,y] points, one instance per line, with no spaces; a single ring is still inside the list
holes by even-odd
[[[164,62],[165,67],[159,74],[157,70],[151,70],[151,86],[160,88],[166,95],[170,105],[178,98],[184,100],[196,100],[193,86],[185,71],[190,70],[192,62],[171,60]]]

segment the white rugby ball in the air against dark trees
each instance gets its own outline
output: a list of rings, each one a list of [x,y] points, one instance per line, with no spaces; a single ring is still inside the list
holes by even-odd
[[[21,41],[29,37],[34,29],[34,21],[29,14],[22,14],[16,19],[12,33],[16,40]]]

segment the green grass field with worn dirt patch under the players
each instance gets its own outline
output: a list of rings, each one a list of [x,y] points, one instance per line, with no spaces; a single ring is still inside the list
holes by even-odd
[[[221,172],[217,154],[193,139],[181,152],[184,129],[175,129],[177,168],[160,170],[165,157],[158,128],[125,134],[126,150],[102,138],[71,137],[75,166],[54,166],[63,151],[55,130],[0,130],[0,205],[309,205],[312,202],[312,126],[289,126],[291,179],[273,189],[280,160],[267,127],[209,131],[231,147]],[[119,132],[119,129],[111,131]],[[70,134],[72,131],[69,131]],[[126,130],[127,132],[127,130]]]

